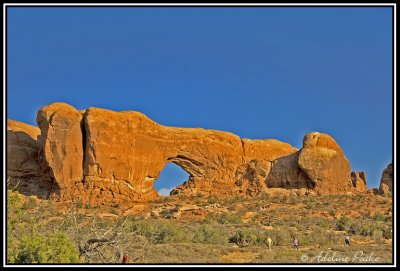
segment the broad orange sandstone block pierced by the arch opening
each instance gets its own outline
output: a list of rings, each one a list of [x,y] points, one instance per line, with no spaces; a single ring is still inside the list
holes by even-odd
[[[166,127],[139,112],[99,108],[88,109],[84,123],[84,174],[91,200],[152,199],[157,196],[153,182],[168,162],[190,175],[173,193],[232,194],[234,173],[243,159],[234,134]]]

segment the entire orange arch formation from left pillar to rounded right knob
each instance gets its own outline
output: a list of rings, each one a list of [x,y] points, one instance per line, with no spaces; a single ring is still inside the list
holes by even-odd
[[[340,194],[352,188],[350,165],[325,134],[307,134],[298,150],[274,139],[163,126],[135,111],[79,111],[64,103],[42,107],[37,122],[35,174],[57,184],[62,200],[110,204],[153,199],[153,182],[169,162],[189,173],[172,194],[254,196],[270,188]],[[10,174],[18,163],[7,166]]]

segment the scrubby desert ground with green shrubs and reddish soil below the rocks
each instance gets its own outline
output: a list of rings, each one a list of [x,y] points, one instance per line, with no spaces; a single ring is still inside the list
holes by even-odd
[[[303,255],[310,260],[323,252],[360,251],[373,253],[379,263],[392,261],[388,197],[176,195],[136,207],[65,204],[9,190],[7,262],[121,263],[128,253],[132,264],[303,263]],[[351,236],[350,246],[344,245],[345,235]],[[292,247],[295,237],[298,251]]]

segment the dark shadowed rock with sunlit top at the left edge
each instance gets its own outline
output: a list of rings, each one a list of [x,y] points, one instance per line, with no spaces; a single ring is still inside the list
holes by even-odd
[[[47,199],[52,183],[42,178],[39,135],[40,130],[35,126],[7,120],[7,187]]]

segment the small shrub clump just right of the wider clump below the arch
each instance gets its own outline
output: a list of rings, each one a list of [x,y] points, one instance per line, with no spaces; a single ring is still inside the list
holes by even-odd
[[[194,243],[225,244],[227,241],[228,234],[226,230],[218,226],[202,225],[193,236]]]

